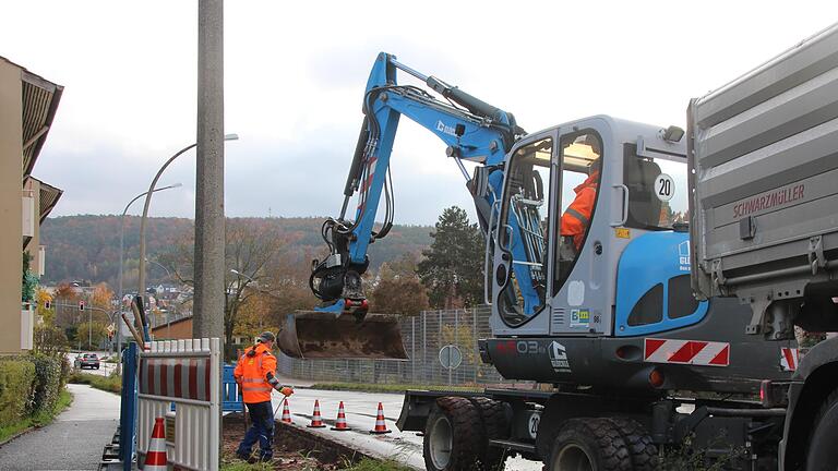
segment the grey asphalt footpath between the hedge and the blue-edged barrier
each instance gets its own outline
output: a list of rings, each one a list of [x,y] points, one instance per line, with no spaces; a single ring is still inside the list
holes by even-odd
[[[119,422],[119,396],[86,385],[67,385],[70,409],[44,428],[0,447],[0,469],[95,470]]]

